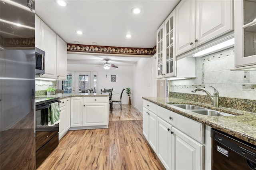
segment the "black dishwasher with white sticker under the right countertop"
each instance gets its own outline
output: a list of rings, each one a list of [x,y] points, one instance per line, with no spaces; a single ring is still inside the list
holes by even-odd
[[[256,170],[256,146],[211,129],[212,170]]]

